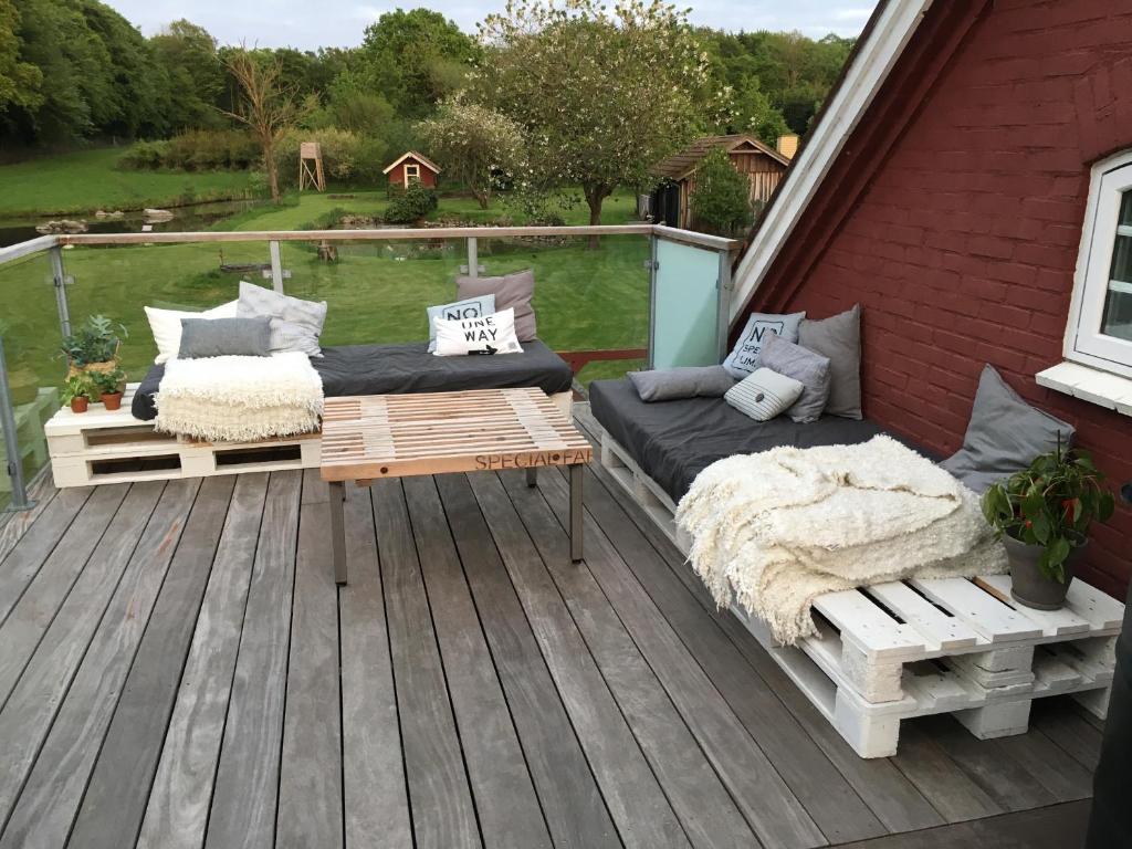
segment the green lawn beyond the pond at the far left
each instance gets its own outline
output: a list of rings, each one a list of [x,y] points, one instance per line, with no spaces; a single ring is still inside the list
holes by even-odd
[[[119,171],[122,152],[111,147],[0,165],[0,218],[225,200],[252,190],[251,174],[242,171]]]

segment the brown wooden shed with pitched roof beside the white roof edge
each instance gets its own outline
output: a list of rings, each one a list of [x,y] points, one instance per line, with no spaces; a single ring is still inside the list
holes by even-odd
[[[727,151],[735,170],[747,175],[752,204],[764,204],[770,199],[790,164],[789,156],[747,134],[697,138],[653,169],[653,173],[661,178],[652,195],[654,221],[677,228],[692,226],[688,200],[695,190],[696,168],[710,151],[719,147]]]

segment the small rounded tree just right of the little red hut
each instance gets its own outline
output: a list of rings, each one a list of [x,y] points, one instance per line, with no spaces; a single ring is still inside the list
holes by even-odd
[[[491,190],[514,174],[523,156],[523,128],[487,106],[451,100],[417,125],[429,155],[468,186],[481,209]]]

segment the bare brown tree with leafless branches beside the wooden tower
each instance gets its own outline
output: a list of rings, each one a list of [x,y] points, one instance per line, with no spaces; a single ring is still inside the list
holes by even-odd
[[[241,48],[231,53],[226,67],[239,92],[234,110],[225,114],[247,125],[259,142],[272,200],[277,204],[280,178],[275,145],[299,115],[294,87],[283,83],[283,63],[274,55],[257,55]]]

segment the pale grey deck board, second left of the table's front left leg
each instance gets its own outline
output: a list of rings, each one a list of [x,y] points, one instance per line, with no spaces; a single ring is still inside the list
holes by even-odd
[[[300,481],[299,472],[274,472],[267,483],[208,817],[208,849],[275,843]]]

